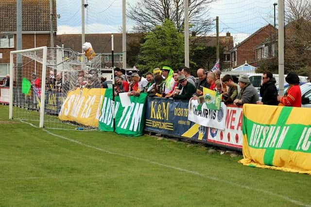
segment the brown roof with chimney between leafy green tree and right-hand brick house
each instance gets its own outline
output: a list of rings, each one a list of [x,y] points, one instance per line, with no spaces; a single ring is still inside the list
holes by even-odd
[[[191,39],[191,42],[195,44],[203,44],[207,47],[216,47],[217,37],[216,36],[195,36]],[[219,44],[225,50],[230,50],[233,48],[233,37],[230,33],[226,36],[219,36]]]

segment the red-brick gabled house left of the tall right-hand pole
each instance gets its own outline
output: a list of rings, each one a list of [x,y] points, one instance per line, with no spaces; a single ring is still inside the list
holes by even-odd
[[[259,56],[261,56],[261,54],[268,56],[269,50],[268,48],[265,48],[266,46],[264,46],[262,53],[261,48],[259,53],[259,50],[257,50],[259,49],[258,46],[266,41],[266,39],[272,38],[275,33],[277,33],[276,28],[271,24],[268,24],[235,46],[231,50],[231,67],[242,65],[245,61],[250,65],[259,66],[257,64]]]

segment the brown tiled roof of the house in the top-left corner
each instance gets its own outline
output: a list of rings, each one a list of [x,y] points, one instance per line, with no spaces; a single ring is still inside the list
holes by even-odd
[[[16,32],[17,0],[0,0],[0,32]],[[53,30],[57,31],[56,0],[53,3]],[[50,0],[22,0],[22,31],[50,31]]]

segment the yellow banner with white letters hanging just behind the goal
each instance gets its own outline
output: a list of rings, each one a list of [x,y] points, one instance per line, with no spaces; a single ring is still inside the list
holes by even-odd
[[[92,88],[70,91],[58,114],[60,120],[98,127],[105,89]]]

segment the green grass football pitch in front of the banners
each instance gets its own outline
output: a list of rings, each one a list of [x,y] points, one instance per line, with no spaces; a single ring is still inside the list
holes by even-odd
[[[311,176],[245,167],[200,144],[36,128],[0,105],[0,207],[294,207]]]

